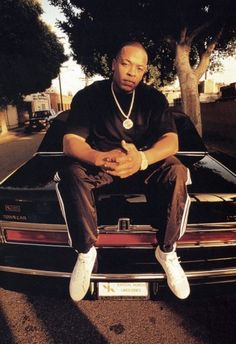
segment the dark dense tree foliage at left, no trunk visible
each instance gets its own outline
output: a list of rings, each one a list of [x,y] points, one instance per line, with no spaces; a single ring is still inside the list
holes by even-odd
[[[0,105],[44,91],[66,60],[36,1],[0,1]]]

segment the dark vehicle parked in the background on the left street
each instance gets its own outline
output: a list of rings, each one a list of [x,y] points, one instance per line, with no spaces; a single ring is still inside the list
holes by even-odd
[[[32,117],[24,123],[25,132],[40,131],[48,129],[53,119],[56,117],[54,110],[40,110],[35,111]]]

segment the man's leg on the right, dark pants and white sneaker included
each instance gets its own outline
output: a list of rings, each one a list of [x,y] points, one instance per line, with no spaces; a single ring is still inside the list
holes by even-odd
[[[154,225],[159,229],[156,258],[167,275],[172,292],[186,298],[189,284],[178,262],[176,241],[184,234],[190,198],[187,184],[191,182],[188,169],[175,157],[167,158],[146,179],[147,200],[155,214]]]

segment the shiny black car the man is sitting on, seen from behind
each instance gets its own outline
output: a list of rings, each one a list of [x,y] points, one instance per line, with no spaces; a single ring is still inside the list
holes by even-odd
[[[177,250],[190,284],[236,281],[236,175],[209,154],[189,118],[175,112],[178,158],[190,169],[190,214]],[[0,184],[0,271],[69,278],[76,253],[55,191],[64,163],[62,136],[68,113],[53,121],[38,152]],[[156,231],[142,189],[113,185],[96,190],[98,259],[94,297],[158,295],[166,276],[154,251]],[[35,277],[36,278],[36,277]]]

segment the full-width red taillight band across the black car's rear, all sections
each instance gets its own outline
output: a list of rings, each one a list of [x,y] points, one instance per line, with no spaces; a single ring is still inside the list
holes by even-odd
[[[66,245],[68,244],[68,234],[66,231],[40,231],[4,228],[4,239],[8,243],[29,243],[45,245]],[[236,232],[234,231],[207,231],[207,232],[187,232],[178,241],[178,246],[198,246],[198,245],[235,245]],[[152,233],[100,233],[96,242],[97,247],[155,247],[157,239],[155,232]]]

